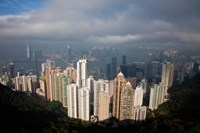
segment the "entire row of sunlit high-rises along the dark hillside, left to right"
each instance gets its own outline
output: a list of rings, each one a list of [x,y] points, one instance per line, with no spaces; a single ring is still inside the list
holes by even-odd
[[[133,78],[126,78],[120,71],[113,80],[89,76],[87,60],[77,61],[75,69],[69,64],[65,70],[55,67],[55,62],[47,60],[42,64],[41,77],[28,73],[13,78],[14,88],[18,91],[36,92],[46,99],[60,101],[67,108],[68,116],[90,120],[96,116],[102,121],[109,117],[119,120],[144,120],[147,106],[154,110],[168,98],[167,90],[172,86],[174,65],[162,64],[162,78],[158,84],[148,89],[147,80],[138,84]],[[37,86],[39,80],[39,86]],[[144,99],[149,94],[149,104]]]

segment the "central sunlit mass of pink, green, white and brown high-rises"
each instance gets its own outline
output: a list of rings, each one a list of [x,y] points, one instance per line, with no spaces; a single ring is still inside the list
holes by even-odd
[[[77,62],[77,69],[69,65],[62,71],[47,66],[45,71],[46,86],[41,80],[40,88],[46,88],[41,90],[47,99],[62,102],[70,117],[89,120],[90,116],[97,116],[100,121],[112,116],[119,120],[146,117],[145,80],[136,90],[121,72],[111,81],[95,80],[88,75],[86,59]]]

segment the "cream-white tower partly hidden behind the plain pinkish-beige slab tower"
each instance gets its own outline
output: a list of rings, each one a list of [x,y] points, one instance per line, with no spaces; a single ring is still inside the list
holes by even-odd
[[[94,82],[94,115],[99,114],[99,92],[105,92],[108,94],[109,82],[108,80],[99,79]],[[109,110],[109,108],[107,108]]]

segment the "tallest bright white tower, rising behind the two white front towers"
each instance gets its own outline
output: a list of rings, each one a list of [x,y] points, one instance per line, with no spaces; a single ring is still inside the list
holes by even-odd
[[[87,60],[82,59],[77,62],[76,83],[78,85],[78,88],[82,88],[86,86],[86,78],[87,78]]]

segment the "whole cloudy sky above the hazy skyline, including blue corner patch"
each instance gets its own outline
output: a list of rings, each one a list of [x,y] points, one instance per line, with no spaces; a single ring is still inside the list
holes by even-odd
[[[199,0],[0,0],[0,45],[200,45]]]

